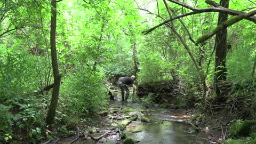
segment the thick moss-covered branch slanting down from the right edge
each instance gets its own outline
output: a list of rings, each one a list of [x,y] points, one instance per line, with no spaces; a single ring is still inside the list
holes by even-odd
[[[198,38],[196,41],[196,45],[198,45],[199,43],[203,43],[204,41],[206,41],[207,39],[211,38],[213,35],[215,35],[216,33],[218,33],[218,31],[221,31],[229,26],[234,25],[236,22],[241,21],[245,18],[251,17],[252,15],[256,14],[256,10],[246,14],[246,15],[235,15],[233,18],[222,22],[221,25],[219,25],[218,27],[216,27],[211,33],[205,34],[203,35],[201,38]]]

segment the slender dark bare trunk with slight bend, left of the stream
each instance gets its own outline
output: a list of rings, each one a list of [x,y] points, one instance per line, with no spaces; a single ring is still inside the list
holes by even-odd
[[[59,97],[59,91],[60,91],[60,79],[61,79],[61,75],[59,74],[57,51],[56,51],[56,22],[57,22],[56,1],[52,0],[51,5],[52,5],[52,8],[51,8],[52,17],[51,17],[50,42],[51,42],[51,57],[52,57],[52,70],[53,70],[54,84],[53,84],[53,90],[52,90],[51,104],[46,117],[46,123],[49,125],[52,124],[55,116],[55,110],[58,104],[58,97]]]

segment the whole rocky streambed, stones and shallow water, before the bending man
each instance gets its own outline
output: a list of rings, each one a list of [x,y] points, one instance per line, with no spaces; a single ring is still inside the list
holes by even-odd
[[[77,138],[57,143],[219,143],[189,124],[189,113],[180,109],[115,100],[100,115],[98,126],[84,126]]]

